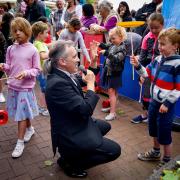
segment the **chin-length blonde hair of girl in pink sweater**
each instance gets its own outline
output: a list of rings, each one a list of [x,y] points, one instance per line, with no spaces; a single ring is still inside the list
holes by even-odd
[[[31,25],[26,19],[22,17],[16,17],[11,22],[11,34],[13,38],[15,37],[16,30],[20,30],[24,32],[24,34],[27,36],[28,39],[31,37],[32,34]]]

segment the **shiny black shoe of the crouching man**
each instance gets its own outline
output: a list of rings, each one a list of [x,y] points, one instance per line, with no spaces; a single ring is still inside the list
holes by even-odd
[[[60,168],[63,169],[64,173],[67,176],[73,177],[73,178],[84,178],[87,176],[87,172],[81,169],[77,169],[72,167],[70,164],[68,164],[64,158],[59,158],[57,160],[58,165]]]

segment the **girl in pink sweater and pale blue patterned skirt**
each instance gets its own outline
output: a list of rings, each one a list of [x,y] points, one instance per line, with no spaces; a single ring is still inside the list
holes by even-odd
[[[40,58],[36,48],[29,43],[31,32],[31,25],[26,19],[17,17],[11,22],[15,43],[7,49],[6,63],[0,64],[0,70],[9,76],[7,111],[9,117],[18,122],[18,140],[13,158],[22,155],[24,142],[28,142],[35,133],[31,120],[38,115],[33,88],[40,72]]]

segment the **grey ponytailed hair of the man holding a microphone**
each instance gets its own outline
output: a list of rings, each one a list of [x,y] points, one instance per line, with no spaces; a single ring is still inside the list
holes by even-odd
[[[66,58],[68,56],[67,47],[74,47],[72,41],[58,40],[53,48],[49,51],[49,59],[45,61],[43,66],[43,72],[45,75],[49,74],[52,67],[57,68],[57,64],[60,58]]]

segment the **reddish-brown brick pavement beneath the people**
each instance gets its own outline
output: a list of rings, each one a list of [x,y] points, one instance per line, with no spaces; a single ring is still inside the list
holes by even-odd
[[[100,112],[102,99],[94,112],[96,118],[104,118]],[[2,105],[0,106],[2,109]],[[140,105],[126,98],[119,98],[118,107],[125,113],[111,122],[112,130],[107,137],[117,141],[122,147],[121,156],[108,164],[88,170],[87,180],[144,180],[150,176],[157,162],[137,160],[137,153],[151,147],[147,134],[147,124],[132,124],[130,120],[141,112]],[[36,134],[25,145],[24,154],[12,159],[11,153],[16,143],[17,124],[8,122],[0,127],[0,180],[69,180],[57,166],[58,155],[53,158],[50,138],[49,118],[39,116],[33,122]],[[173,132],[173,157],[180,154],[180,133]],[[53,161],[46,166],[45,161]]]

